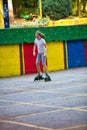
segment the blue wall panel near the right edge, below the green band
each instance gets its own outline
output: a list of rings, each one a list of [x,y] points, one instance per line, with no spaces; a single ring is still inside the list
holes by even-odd
[[[76,68],[84,66],[86,66],[84,41],[68,41],[68,67]]]

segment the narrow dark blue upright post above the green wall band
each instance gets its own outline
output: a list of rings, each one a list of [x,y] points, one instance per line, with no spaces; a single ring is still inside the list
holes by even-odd
[[[8,0],[3,0],[3,8],[4,8],[4,26],[5,28],[9,28]]]

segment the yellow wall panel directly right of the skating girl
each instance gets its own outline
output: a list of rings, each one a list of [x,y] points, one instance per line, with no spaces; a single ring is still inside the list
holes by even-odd
[[[64,69],[64,49],[63,42],[50,42],[47,44],[47,64],[48,71]]]

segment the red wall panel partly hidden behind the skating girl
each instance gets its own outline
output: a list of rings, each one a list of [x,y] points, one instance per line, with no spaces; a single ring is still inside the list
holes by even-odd
[[[24,44],[23,49],[24,49],[25,74],[36,73],[37,72],[36,56],[35,57],[33,56],[33,44]]]

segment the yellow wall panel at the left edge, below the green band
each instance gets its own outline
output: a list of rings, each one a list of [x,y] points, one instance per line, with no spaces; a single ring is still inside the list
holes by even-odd
[[[0,46],[0,77],[20,75],[19,45]]]

